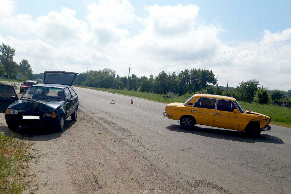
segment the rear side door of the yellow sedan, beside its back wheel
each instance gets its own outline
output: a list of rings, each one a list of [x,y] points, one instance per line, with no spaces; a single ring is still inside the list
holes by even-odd
[[[214,98],[199,98],[192,107],[192,114],[196,116],[196,123],[198,124],[213,124],[215,113]]]

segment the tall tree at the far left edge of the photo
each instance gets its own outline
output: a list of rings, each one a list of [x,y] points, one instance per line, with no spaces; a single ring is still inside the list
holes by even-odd
[[[4,65],[6,72],[8,72],[6,79],[9,79],[11,77],[10,65],[14,65],[13,57],[15,56],[15,49],[2,43],[0,45],[0,52],[0,62]]]

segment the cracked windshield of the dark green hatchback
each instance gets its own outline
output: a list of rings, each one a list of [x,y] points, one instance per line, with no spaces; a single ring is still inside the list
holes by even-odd
[[[31,86],[21,97],[22,100],[38,100],[47,102],[65,102],[61,88]]]

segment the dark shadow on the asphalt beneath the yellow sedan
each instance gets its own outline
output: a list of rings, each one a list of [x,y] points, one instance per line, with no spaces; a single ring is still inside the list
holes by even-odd
[[[202,128],[194,126],[193,129],[182,129],[180,125],[172,124],[167,129],[171,131],[178,131],[182,133],[196,134],[199,136],[225,139],[231,141],[240,141],[246,143],[255,143],[255,142],[265,142],[265,143],[276,143],[284,144],[284,142],[275,136],[268,134],[261,134],[258,136],[247,137],[241,131],[227,130],[227,129],[214,129],[214,128]]]

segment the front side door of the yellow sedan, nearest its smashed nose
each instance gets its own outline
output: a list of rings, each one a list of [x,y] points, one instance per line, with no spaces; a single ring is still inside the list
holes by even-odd
[[[234,102],[218,99],[213,124],[216,127],[238,129],[241,113],[233,112],[234,109],[237,109]]]

